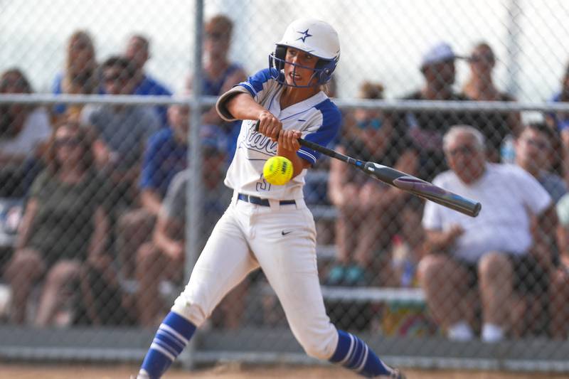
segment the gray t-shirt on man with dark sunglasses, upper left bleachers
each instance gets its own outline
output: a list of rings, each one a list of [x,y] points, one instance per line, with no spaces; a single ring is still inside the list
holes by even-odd
[[[148,137],[160,127],[159,118],[149,107],[124,107],[115,110],[110,105],[87,105],[81,119],[95,127],[95,131],[114,157],[115,169],[127,171],[140,163]]]

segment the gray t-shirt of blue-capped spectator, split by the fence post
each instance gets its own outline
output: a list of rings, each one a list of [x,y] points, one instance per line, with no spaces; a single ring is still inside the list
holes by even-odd
[[[166,198],[162,202],[161,213],[167,218],[186,223],[186,191],[188,181],[191,178],[189,170],[180,171],[172,179]],[[199,202],[202,205],[201,216],[201,235],[208,237],[219,218],[225,212],[231,201],[232,191],[223,184],[218,183],[216,188],[203,188],[202,198]],[[184,236],[178,236],[183,239]]]

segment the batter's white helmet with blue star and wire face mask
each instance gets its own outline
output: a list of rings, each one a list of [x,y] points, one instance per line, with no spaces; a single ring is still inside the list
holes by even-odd
[[[285,63],[296,68],[306,68],[297,63],[287,62],[287,48],[295,48],[319,58],[313,70],[308,85],[297,85],[287,83],[282,75],[279,75],[285,68]],[[331,79],[332,73],[340,59],[340,43],[338,33],[324,21],[314,19],[302,19],[291,23],[285,31],[282,40],[276,43],[275,52],[269,55],[269,68],[277,70],[277,80],[283,85],[291,87],[314,87],[324,85]],[[316,80],[314,80],[316,79]]]

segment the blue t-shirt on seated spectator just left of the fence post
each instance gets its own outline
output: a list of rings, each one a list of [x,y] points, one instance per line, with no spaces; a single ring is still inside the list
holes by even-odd
[[[139,188],[151,188],[166,196],[172,178],[186,169],[187,154],[188,146],[176,141],[170,127],[152,134],[144,152]]]

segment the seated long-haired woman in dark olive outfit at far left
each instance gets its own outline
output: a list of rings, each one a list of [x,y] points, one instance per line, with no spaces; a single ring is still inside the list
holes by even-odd
[[[13,294],[11,320],[17,324],[26,321],[29,294],[42,278],[34,323],[54,324],[80,268],[106,253],[109,188],[97,176],[85,130],[71,121],[60,124],[50,140],[46,163],[33,182],[16,252],[5,272]]]

